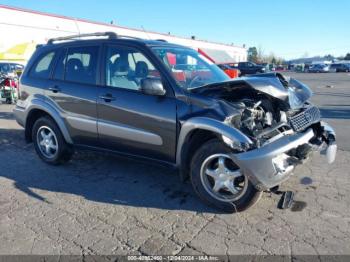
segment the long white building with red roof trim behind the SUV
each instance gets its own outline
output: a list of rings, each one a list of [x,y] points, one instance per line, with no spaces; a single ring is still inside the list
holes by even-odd
[[[0,5],[0,60],[25,63],[36,44],[48,39],[79,33],[113,31],[120,35],[144,39],[162,39],[191,47],[210,57],[215,63],[237,63],[247,60],[244,47],[184,38],[131,29],[114,24],[47,14],[27,9]]]

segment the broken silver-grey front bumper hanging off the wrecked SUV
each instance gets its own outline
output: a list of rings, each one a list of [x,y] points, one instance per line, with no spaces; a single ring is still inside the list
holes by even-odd
[[[231,157],[258,190],[267,190],[289,178],[295,166],[303,162],[291,152],[305,148],[321,151],[332,163],[337,151],[334,130],[321,122],[318,130],[309,128],[303,133],[286,135],[258,149]]]

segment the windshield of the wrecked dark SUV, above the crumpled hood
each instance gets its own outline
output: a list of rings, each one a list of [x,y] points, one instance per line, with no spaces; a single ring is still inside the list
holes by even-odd
[[[230,79],[218,66],[195,50],[177,47],[155,47],[153,51],[183,89]]]

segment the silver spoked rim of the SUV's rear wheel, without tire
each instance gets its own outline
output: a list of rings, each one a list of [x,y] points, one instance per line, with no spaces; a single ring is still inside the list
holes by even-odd
[[[37,132],[37,141],[40,152],[47,158],[54,158],[57,154],[58,143],[51,128],[42,126]]]

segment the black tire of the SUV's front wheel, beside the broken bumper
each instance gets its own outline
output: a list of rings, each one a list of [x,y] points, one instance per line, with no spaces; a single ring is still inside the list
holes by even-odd
[[[197,195],[208,205],[213,206],[219,210],[222,210],[224,212],[228,213],[234,213],[234,212],[240,212],[244,211],[250,207],[252,207],[255,203],[258,202],[260,199],[262,192],[258,191],[253,184],[248,180],[248,178],[242,174],[239,173],[240,177],[237,177],[240,181],[243,182],[242,190],[240,193],[235,197],[235,195],[230,196],[229,191],[227,191],[225,188],[221,188],[219,192],[215,193],[213,190],[210,191],[210,183],[213,183],[213,181],[210,181],[211,176],[208,176],[208,179],[205,178],[206,172],[203,172],[203,168],[205,168],[206,163],[211,161],[210,159],[215,160],[215,157],[218,156],[220,159],[221,156],[226,156],[227,154],[232,153],[232,150],[225,146],[220,140],[213,139],[205,144],[203,144],[194,154],[192,160],[191,160],[191,171],[190,171],[190,177],[192,186],[197,193]],[[220,161],[220,160],[219,160]],[[232,160],[225,158],[226,165],[230,165],[230,170],[233,170],[232,167],[238,168],[238,166],[235,166],[235,164],[230,162]],[[218,162],[219,163],[219,162]],[[218,164],[218,167],[216,170],[220,168]],[[215,167],[214,167],[215,168]],[[218,172],[218,171],[214,172]],[[207,169],[208,171],[208,169]],[[212,169],[210,169],[212,171]],[[231,171],[232,172],[232,171]],[[233,171],[236,172],[237,171]],[[221,175],[221,174],[220,174]],[[216,176],[217,177],[217,176]],[[232,181],[233,187],[237,189],[235,186],[236,179]],[[218,182],[219,184],[219,182]],[[213,189],[215,186],[213,187]],[[221,192],[221,193],[220,193]],[[223,195],[223,197],[218,197],[218,195]]]

